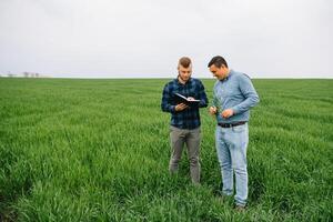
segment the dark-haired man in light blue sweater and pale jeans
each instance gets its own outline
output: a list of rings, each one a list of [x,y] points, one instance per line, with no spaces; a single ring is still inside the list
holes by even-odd
[[[210,113],[216,117],[215,145],[222,173],[222,194],[233,194],[235,174],[236,210],[243,211],[248,200],[246,148],[249,143],[250,109],[259,97],[251,79],[230,70],[224,58],[214,57],[208,64],[218,79]]]

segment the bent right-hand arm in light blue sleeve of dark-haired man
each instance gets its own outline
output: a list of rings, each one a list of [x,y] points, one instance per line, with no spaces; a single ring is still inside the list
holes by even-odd
[[[243,113],[251,108],[255,107],[259,103],[259,95],[251,82],[251,79],[243,74],[240,77],[240,90],[242,94],[245,97],[245,100],[238,105],[231,108],[233,110],[233,114]]]

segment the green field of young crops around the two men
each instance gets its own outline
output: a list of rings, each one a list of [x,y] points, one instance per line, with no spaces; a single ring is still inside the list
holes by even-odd
[[[0,79],[0,221],[333,221],[333,80],[253,80],[244,213],[206,109],[201,185],[169,174],[167,81]]]

